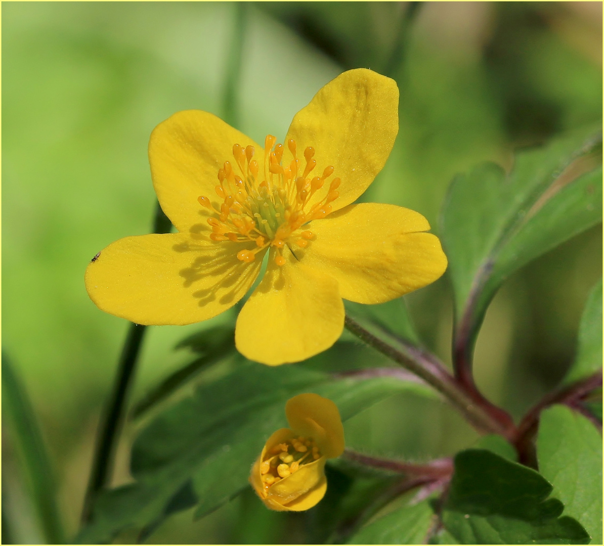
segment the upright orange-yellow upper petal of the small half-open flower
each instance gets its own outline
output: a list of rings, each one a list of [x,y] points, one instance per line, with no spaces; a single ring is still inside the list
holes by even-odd
[[[344,452],[344,427],[336,406],[329,398],[304,393],[285,405],[289,426],[300,436],[310,436],[327,459]]]

